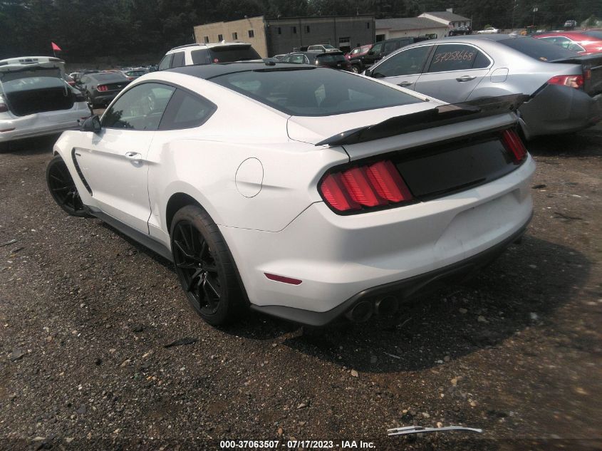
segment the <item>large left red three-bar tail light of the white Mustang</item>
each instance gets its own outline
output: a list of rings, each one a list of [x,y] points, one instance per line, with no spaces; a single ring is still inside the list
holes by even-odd
[[[319,190],[326,203],[338,212],[413,200],[408,186],[390,160],[331,172],[323,177]]]

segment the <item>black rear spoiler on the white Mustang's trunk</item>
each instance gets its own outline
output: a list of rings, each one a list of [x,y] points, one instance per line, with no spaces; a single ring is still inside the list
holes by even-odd
[[[403,135],[404,133],[426,130],[465,120],[514,112],[527,100],[529,100],[529,95],[512,94],[480,98],[463,103],[450,103],[432,110],[389,118],[378,124],[353,128],[331,136],[331,138],[326,138],[326,140],[318,142],[316,146],[357,144],[358,142],[389,138],[390,136]]]

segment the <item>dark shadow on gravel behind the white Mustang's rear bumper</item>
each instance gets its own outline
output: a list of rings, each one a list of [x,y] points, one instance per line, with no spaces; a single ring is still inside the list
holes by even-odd
[[[368,373],[436,367],[545,326],[576,296],[590,267],[574,249],[526,236],[469,283],[406,302],[397,318],[304,331],[283,344]]]

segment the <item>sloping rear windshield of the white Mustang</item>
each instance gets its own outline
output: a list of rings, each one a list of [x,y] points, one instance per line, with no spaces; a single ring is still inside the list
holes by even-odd
[[[393,87],[328,68],[247,71],[210,81],[298,116],[337,115],[422,102]]]

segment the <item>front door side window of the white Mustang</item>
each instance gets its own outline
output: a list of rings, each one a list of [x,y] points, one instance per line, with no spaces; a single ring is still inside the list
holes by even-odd
[[[142,83],[125,91],[103,116],[103,127],[157,130],[175,88]]]

